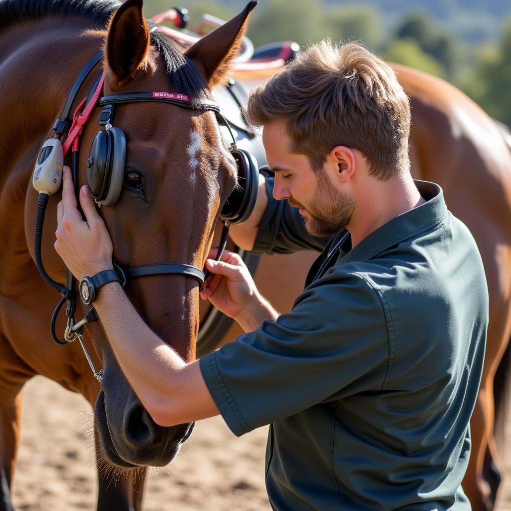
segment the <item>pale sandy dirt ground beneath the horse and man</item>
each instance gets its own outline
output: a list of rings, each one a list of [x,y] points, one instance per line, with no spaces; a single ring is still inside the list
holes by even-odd
[[[25,387],[22,413],[14,480],[16,509],[95,509],[96,467],[89,451],[88,403],[36,377]],[[496,511],[511,511],[511,424],[509,429],[510,448],[503,455],[508,478]],[[260,428],[237,438],[219,417],[197,424],[172,464],[149,474],[144,510],[269,511],[264,487],[266,434],[267,428]]]

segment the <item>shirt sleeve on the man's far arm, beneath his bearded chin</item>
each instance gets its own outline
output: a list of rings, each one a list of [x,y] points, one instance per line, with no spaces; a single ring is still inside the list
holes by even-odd
[[[260,170],[266,179],[268,205],[261,218],[252,252],[272,254],[323,250],[330,238],[310,235],[298,209],[290,206],[287,200],[273,198],[273,173],[268,167],[262,167]]]

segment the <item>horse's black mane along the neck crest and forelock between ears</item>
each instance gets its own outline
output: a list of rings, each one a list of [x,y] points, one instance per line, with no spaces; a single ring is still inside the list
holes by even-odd
[[[117,0],[0,0],[0,32],[13,24],[37,21],[47,16],[86,18],[106,28],[112,13],[120,5]],[[148,25],[154,27],[152,21],[148,21]],[[174,92],[189,96],[194,103],[207,97],[204,78],[175,41],[153,30],[151,44],[165,60]]]

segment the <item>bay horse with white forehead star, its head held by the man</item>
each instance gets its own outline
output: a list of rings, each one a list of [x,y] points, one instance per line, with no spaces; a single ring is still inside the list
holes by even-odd
[[[179,94],[179,101],[188,97],[187,104],[196,105],[115,105],[111,122],[127,141],[122,197],[101,208],[114,258],[123,267],[181,263],[203,268],[219,207],[235,188],[237,170],[215,114],[202,106],[212,99],[210,89],[225,81],[254,5],[249,3],[184,56],[176,43],[148,26],[142,0],[121,6],[111,0],[0,2],[0,509],[12,509],[21,389],[36,374],[82,393],[95,408],[98,509],[140,509],[145,468],[168,464],[188,438],[193,425],[161,428],[142,408],[100,323],[87,328],[86,342],[96,366],[104,369],[101,385],[78,343],[62,347],[51,341],[49,320],[58,293],[43,283],[34,266],[37,193],[30,181],[41,145],[53,136],[52,126],[76,77],[103,49],[104,63],[85,79],[72,111],[102,70],[104,96],[157,91]],[[83,127],[80,185],[87,182],[91,143],[103,130],[100,111],[95,108]],[[112,167],[122,161],[118,140]],[[42,260],[50,277],[63,282],[64,268],[53,249],[58,195],[48,204]],[[150,275],[130,282],[126,291],[151,328],[173,339],[183,359],[193,360],[199,327],[195,281]],[[77,318],[85,312],[78,304]],[[64,319],[61,314],[57,322],[60,336]]]

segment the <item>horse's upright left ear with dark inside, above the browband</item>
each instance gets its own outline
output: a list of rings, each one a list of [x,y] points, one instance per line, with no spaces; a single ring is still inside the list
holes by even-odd
[[[118,86],[144,65],[150,39],[142,0],[127,0],[113,15],[106,39],[106,62]]]

